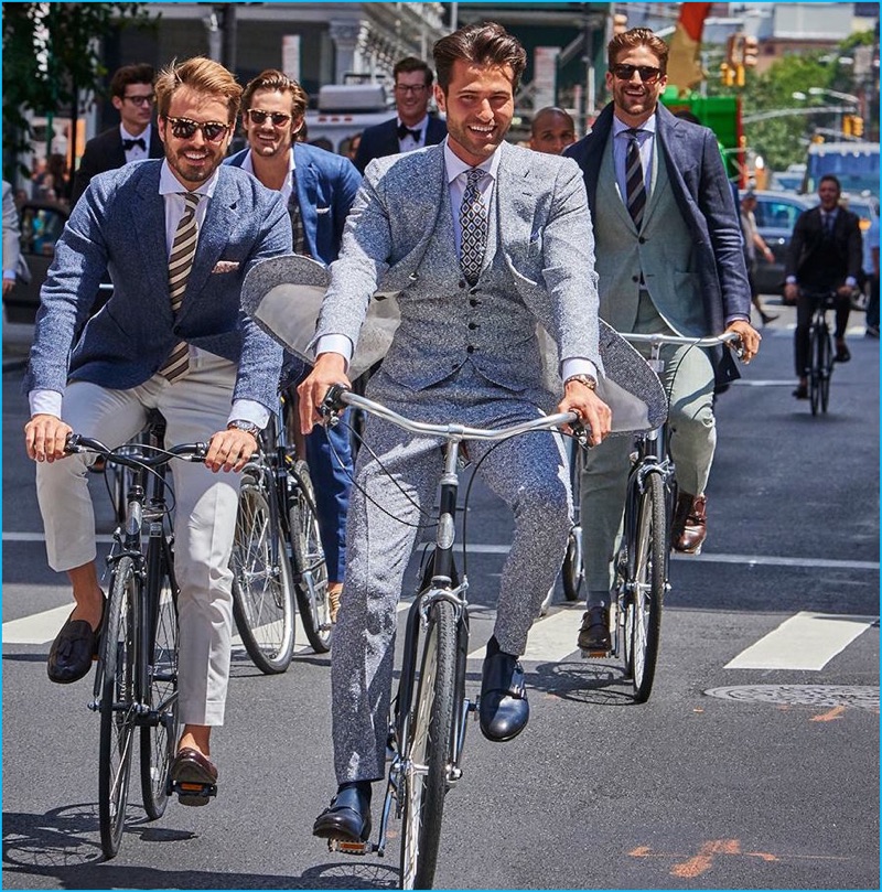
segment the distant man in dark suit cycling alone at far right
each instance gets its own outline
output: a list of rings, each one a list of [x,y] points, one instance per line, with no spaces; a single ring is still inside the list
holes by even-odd
[[[808,399],[808,330],[815,311],[813,295],[836,291],[836,361],[847,363],[851,353],[846,345],[846,329],[851,310],[851,294],[861,271],[860,221],[839,206],[839,180],[829,174],[818,183],[820,205],[804,211],[796,221],[787,249],[784,297],[796,301],[794,346],[799,383],[793,395]]]

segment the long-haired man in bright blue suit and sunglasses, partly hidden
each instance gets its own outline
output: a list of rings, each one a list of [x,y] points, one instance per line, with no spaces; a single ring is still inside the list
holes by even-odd
[[[309,96],[294,80],[273,68],[245,86],[241,123],[248,148],[225,163],[252,173],[265,186],[282,193],[291,216],[294,252],[330,266],[337,259],[343,226],[362,175],[343,155],[298,140]],[[283,384],[299,384],[305,364],[286,357]],[[291,389],[290,395],[297,396]],[[315,484],[319,531],[327,561],[327,601],[336,622],[346,561],[346,512],[353,479],[348,428],[316,427],[305,438],[306,461]]]

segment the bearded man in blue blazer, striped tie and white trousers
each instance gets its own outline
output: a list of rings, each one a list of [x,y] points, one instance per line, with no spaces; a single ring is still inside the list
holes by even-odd
[[[172,462],[183,731],[171,777],[200,788],[217,780],[209,739],[224,722],[229,677],[238,474],[216,472],[240,471],[254,453],[282,359],[239,295],[257,261],[290,252],[291,224],[277,192],[222,166],[241,96],[233,75],[192,58],[170,65],[155,88],[164,161],[95,176],[56,245],[25,376],[24,434],[49,562],[67,572],[76,601],[50,651],[57,683],[88,673],[104,622],[86,481],[94,456],[65,458],[67,434],[117,447],[159,409],[168,443],[209,441],[204,464]],[[106,271],[112,297],[87,322]]]

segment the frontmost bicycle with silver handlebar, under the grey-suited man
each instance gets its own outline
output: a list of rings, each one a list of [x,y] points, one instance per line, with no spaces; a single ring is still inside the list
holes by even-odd
[[[411,433],[445,441],[435,542],[421,570],[419,592],[406,621],[404,657],[389,717],[391,757],[377,842],[329,840],[331,851],[385,856],[392,807],[401,821],[401,889],[431,889],[441,839],[444,796],[462,777],[460,762],[470,712],[477,702],[465,694],[469,654],[469,580],[453,558],[454,518],[461,444],[464,440],[504,440],[533,431],[578,427],[576,412],[559,412],[499,430],[429,424],[401,415],[336,385],[323,413],[346,406],[376,415]],[[584,433],[581,434],[584,439]]]

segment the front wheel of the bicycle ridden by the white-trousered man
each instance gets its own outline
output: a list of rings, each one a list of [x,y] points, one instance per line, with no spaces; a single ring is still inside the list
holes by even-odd
[[[129,798],[135,748],[135,610],[141,580],[131,558],[120,558],[105,616],[100,646],[101,734],[98,754],[98,825],[106,858],[119,851]]]

